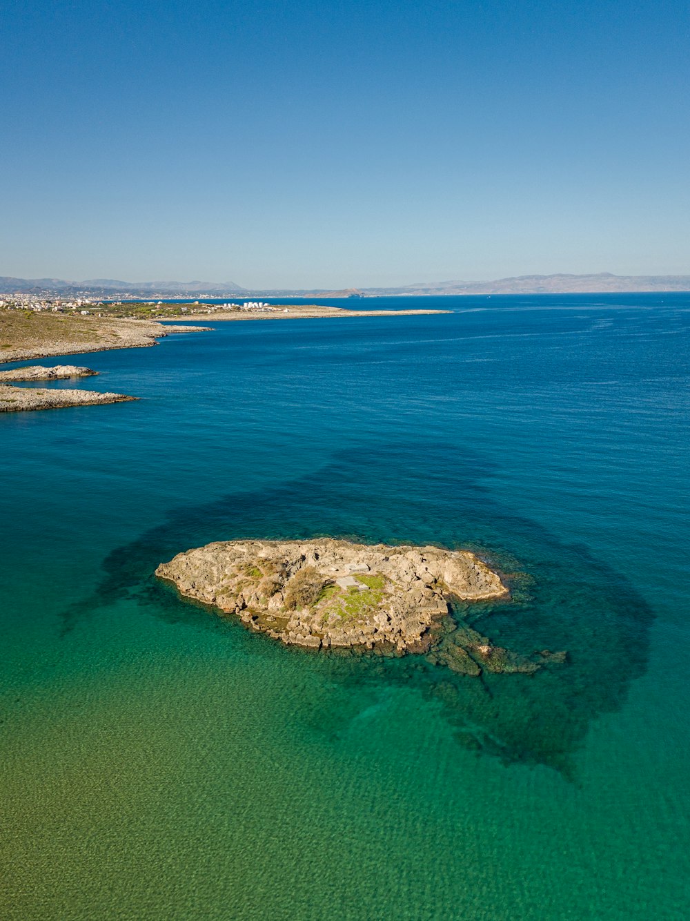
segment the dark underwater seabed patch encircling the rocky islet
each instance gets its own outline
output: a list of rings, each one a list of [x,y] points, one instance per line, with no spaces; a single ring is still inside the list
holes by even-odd
[[[63,630],[125,596],[153,604],[171,622],[215,624],[201,605],[178,599],[152,576],[161,561],[207,542],[337,536],[466,547],[503,572],[519,570],[512,602],[476,606],[470,622],[492,642],[524,654],[567,649],[565,665],[534,676],[484,674],[477,680],[421,657],[269,651],[266,637],[242,641],[256,655],[308,657],[305,668],[352,688],[404,682],[442,708],[466,747],[505,764],[546,764],[572,777],[573,756],[592,720],[620,708],[630,682],[647,667],[653,612],[626,577],[587,547],[559,541],[535,521],[499,507],[481,482],[490,474],[474,452],[452,444],[427,444],[421,466],[418,446],[392,443],[362,453],[343,450],[318,472],[280,487],[180,507],[109,554],[96,595],[64,612]]]

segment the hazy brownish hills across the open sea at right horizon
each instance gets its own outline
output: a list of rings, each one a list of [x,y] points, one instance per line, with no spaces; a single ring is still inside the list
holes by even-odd
[[[605,294],[632,291],[690,291],[690,275],[516,275],[493,282],[427,282],[397,288],[365,288],[367,295]]]

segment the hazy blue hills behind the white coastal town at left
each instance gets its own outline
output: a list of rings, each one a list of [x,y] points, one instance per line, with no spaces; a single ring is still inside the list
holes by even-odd
[[[123,282],[115,278],[89,278],[83,282],[64,281],[62,278],[12,278],[0,275],[0,292],[54,292],[70,294],[87,292],[89,294],[236,294],[245,289],[235,282]]]

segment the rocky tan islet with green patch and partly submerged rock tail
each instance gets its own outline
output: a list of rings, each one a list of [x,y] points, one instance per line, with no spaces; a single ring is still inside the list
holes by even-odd
[[[499,574],[467,551],[331,539],[229,541],[178,554],[155,575],[286,645],[425,654],[470,675],[531,673],[564,657],[548,650],[520,656],[452,616],[454,600],[510,597]]]

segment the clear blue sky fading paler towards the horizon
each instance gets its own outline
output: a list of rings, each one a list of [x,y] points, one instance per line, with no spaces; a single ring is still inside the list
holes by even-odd
[[[0,274],[690,274],[685,0],[5,0],[0,29]]]

